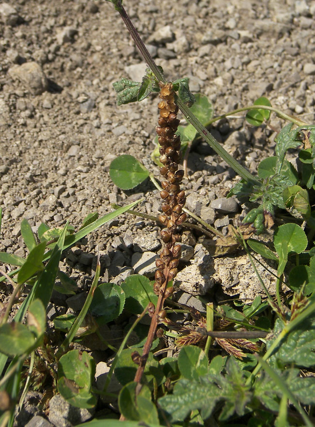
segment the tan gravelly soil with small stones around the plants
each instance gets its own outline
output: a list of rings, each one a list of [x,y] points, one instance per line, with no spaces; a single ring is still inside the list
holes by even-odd
[[[124,4],[167,78],[189,77],[191,90],[209,97],[215,115],[264,95],[284,112],[314,122],[314,0]],[[109,177],[110,162],[119,154],[134,155],[159,176],[150,160],[157,98],[115,103],[112,83],[122,77],[141,80],[145,65],[113,6],[83,0],[1,2],[0,34],[0,251],[27,254],[19,231],[23,218],[34,231],[41,222],[54,227],[69,221],[77,228],[87,214],[104,215],[111,203],[143,195],[139,209],[157,215],[159,195],[150,182],[121,191]],[[271,128],[253,128],[239,114],[219,122],[212,133],[255,172],[260,160],[273,155],[276,131],[284,124],[273,118]],[[239,224],[244,206],[218,208],[215,202],[239,179],[234,171],[203,142],[189,154],[188,171],[187,207],[223,233],[228,224]],[[68,251],[61,268],[81,291],[88,290],[98,246],[102,280],[120,283],[142,272],[142,257],[154,259],[158,231],[155,222],[121,216]],[[214,298],[213,290],[217,300],[225,294],[251,300],[259,290],[251,286],[246,292],[255,278],[242,267],[243,255],[235,256],[233,267],[231,257],[209,256],[199,237],[185,234],[185,303],[200,293],[212,292]],[[198,270],[197,283],[187,285],[185,269],[188,277]],[[272,277],[265,279],[271,286]],[[1,292],[4,300],[6,291]],[[62,303],[55,299],[60,314]]]

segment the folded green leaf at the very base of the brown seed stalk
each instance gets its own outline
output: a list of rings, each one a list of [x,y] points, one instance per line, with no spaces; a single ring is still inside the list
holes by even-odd
[[[121,414],[128,420],[157,424],[157,408],[152,402],[150,389],[143,385],[136,395],[136,388],[136,382],[129,382],[119,393],[118,406]]]

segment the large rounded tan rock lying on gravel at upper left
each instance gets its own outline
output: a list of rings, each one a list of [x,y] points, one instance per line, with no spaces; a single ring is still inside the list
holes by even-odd
[[[26,62],[22,65],[14,65],[8,70],[13,80],[18,80],[33,95],[40,95],[48,88],[48,81],[44,71],[37,62]]]

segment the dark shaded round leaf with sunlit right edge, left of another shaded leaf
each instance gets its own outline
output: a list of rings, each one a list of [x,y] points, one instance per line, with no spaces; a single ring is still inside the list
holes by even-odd
[[[124,305],[124,290],[113,283],[102,283],[94,291],[90,312],[98,325],[104,325],[116,319]]]

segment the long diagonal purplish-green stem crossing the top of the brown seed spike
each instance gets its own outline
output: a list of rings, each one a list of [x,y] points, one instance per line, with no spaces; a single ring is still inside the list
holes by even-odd
[[[120,13],[120,16],[122,17],[131,37],[133,38],[134,42],[136,43],[139,51],[141,52],[144,60],[148,64],[148,66],[151,68],[152,72],[156,76],[157,80],[159,82],[166,83],[165,77],[160,72],[160,70],[157,68],[156,63],[154,62],[152,56],[150,55],[149,51],[145,47],[139,33],[133,26],[133,23],[131,22],[130,18],[128,17],[126,10],[124,9],[123,5],[120,1],[117,1],[119,7],[118,11]],[[205,138],[205,141],[210,145],[213,150],[219,154],[223,160],[228,163],[236,173],[241,176],[245,181],[250,181],[255,185],[260,185],[260,182],[243,166],[241,166],[224,148],[220,145],[220,143],[206,130],[205,126],[202,125],[202,123],[195,117],[189,107],[180,99],[178,96],[175,95],[175,102],[178,105],[181,112],[184,114],[186,119],[191,123],[194,128],[199,132],[199,134]]]

